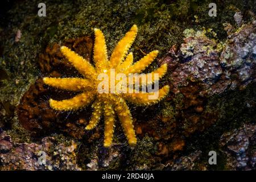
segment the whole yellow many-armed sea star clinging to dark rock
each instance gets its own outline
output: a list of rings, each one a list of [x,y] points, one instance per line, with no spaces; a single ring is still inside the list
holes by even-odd
[[[169,92],[169,86],[163,86],[158,90],[158,98],[149,100],[148,96],[152,93],[99,93],[97,92],[100,73],[110,74],[110,69],[115,69],[117,73],[141,73],[148,65],[152,63],[158,55],[158,51],[152,51],[144,56],[141,60],[133,64],[133,53],[127,55],[127,51],[134,42],[137,35],[138,28],[136,25],[125,34],[125,36],[118,42],[117,46],[108,59],[105,37],[101,30],[94,28],[95,42],[94,42],[94,63],[95,66],[85,60],[83,57],[77,55],[71,49],[62,46],[61,52],[72,65],[79,71],[84,78],[51,78],[44,77],[45,84],[54,86],[59,89],[66,89],[72,91],[80,91],[75,97],[68,100],[56,101],[49,100],[49,105],[55,110],[77,110],[81,107],[88,106],[92,101],[93,113],[89,124],[85,127],[86,130],[93,129],[100,121],[101,115],[104,115],[105,132],[104,132],[104,146],[109,147],[112,144],[115,115],[118,116],[119,121],[123,127],[128,143],[134,146],[137,143],[135,136],[133,119],[130,114],[129,107],[126,101],[135,105],[151,105],[162,100]],[[126,56],[127,55],[127,56]],[[126,56],[126,59],[125,59]],[[152,73],[158,73],[161,78],[167,71],[167,65],[163,64]],[[150,74],[150,73],[148,73]],[[139,75],[137,75],[139,77]],[[158,78],[158,79],[159,79]],[[158,81],[154,79],[152,82]]]

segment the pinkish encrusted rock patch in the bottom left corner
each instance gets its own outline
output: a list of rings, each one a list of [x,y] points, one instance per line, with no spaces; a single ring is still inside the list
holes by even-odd
[[[1,130],[0,170],[80,170],[76,164],[76,147],[74,142],[64,146],[52,137],[43,138],[40,144],[15,143]]]

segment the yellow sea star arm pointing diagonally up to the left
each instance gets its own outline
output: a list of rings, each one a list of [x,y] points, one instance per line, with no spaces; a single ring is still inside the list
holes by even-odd
[[[68,47],[61,46],[60,51],[63,53],[65,57],[67,57],[68,61],[72,63],[72,65],[85,77],[95,77],[96,71],[94,67],[89,63],[89,61],[85,60],[82,56],[77,55],[74,51],[71,51]]]

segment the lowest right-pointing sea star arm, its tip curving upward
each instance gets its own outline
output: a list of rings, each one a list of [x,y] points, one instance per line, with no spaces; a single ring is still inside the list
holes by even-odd
[[[169,92],[169,85],[163,86],[155,93],[156,98],[150,99],[150,96],[153,96],[152,93],[124,93],[123,98],[135,105],[151,105],[156,104],[162,100]]]

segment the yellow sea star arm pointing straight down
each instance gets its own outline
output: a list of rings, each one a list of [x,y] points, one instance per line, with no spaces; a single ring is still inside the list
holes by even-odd
[[[109,147],[112,144],[113,133],[114,133],[114,121],[115,112],[112,104],[107,102],[104,106],[104,119],[105,119],[105,129],[104,129],[104,147]]]

